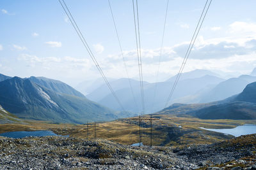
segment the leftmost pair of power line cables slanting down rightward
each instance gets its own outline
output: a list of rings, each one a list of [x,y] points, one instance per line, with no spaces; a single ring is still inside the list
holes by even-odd
[[[100,72],[100,75],[102,76],[102,78],[104,79],[106,85],[108,86],[109,90],[111,91],[111,93],[113,94],[113,96],[115,97],[116,101],[118,102],[118,104],[120,105],[120,107],[122,108],[122,110],[124,111],[124,107],[122,106],[120,100],[118,99],[118,97],[116,96],[116,93],[115,91],[112,89],[111,85],[109,84],[109,81],[108,79],[106,78],[104,72],[102,71],[99,63],[97,62],[97,60],[95,59],[95,56],[93,55],[92,53],[92,50],[90,49],[90,46],[88,45],[88,43],[86,42],[86,40],[84,39],[84,36],[83,34],[81,33],[78,25],[76,24],[76,20],[74,20],[74,17],[72,16],[70,10],[68,9],[67,7],[67,4],[65,3],[64,0],[63,1],[63,4],[65,5],[65,7],[63,6],[63,4],[61,3],[60,0],[58,0],[63,8],[63,10],[65,11],[67,17],[69,18],[72,26],[74,27],[75,31],[77,32],[77,35],[79,36],[79,38],[81,39],[83,45],[84,45],[84,48],[86,48],[86,51],[88,52],[88,54],[90,55],[90,57],[92,58],[95,66],[97,67],[98,71]],[[67,10],[66,10],[67,8]],[[69,15],[68,15],[69,14]]]

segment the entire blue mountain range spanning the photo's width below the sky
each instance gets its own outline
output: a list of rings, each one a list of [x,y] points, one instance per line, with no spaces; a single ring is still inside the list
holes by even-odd
[[[256,81],[256,77],[242,75],[224,80],[217,75],[205,70],[183,73],[183,78],[173,93],[172,101],[168,103],[178,101],[181,104],[173,104],[168,108],[164,108],[164,104],[175,76],[157,83],[144,81],[145,108],[147,108],[145,113],[158,111],[157,113],[209,119],[256,118],[254,116],[256,84],[252,83]],[[35,76],[19,78],[0,74],[1,109],[7,113],[13,113],[13,117],[76,124],[131,117],[141,111],[140,81],[127,78],[111,81],[116,95],[128,111],[115,111],[120,108],[108,87],[102,83],[98,80],[99,86],[95,85],[95,90],[85,97],[81,92],[58,80]],[[90,85],[88,88],[90,89]],[[2,117],[4,117],[3,114]]]

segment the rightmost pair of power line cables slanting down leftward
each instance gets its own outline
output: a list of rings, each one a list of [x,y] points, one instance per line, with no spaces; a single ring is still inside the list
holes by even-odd
[[[172,97],[172,95],[173,95],[173,92],[174,92],[174,90],[175,90],[175,87],[177,86],[177,83],[178,83],[178,81],[179,81],[180,75],[181,75],[181,73],[182,73],[182,71],[183,71],[183,69],[184,69],[184,67],[185,67],[185,65],[186,65],[186,62],[187,62],[187,60],[188,60],[188,57],[189,57],[189,55],[190,55],[190,53],[191,53],[191,50],[192,50],[194,44],[195,44],[196,38],[197,38],[197,36],[198,36],[198,33],[199,33],[199,31],[200,31],[200,29],[201,29],[201,27],[202,27],[202,24],[203,24],[203,22],[204,22],[204,19],[205,19],[205,16],[206,16],[206,14],[207,14],[207,11],[209,10],[209,7],[210,7],[210,5],[211,5],[211,3],[212,3],[212,0],[210,0],[209,3],[208,3],[208,1],[209,1],[209,0],[207,0],[206,3],[205,3],[204,10],[202,11],[202,14],[201,14],[201,16],[200,16],[200,19],[199,19],[199,21],[198,21],[198,24],[196,25],[195,32],[194,32],[193,37],[192,37],[192,39],[191,39],[191,41],[190,41],[190,43],[189,43],[188,50],[187,50],[187,52],[186,52],[186,55],[185,55],[185,57],[184,57],[184,60],[183,60],[183,62],[182,62],[182,64],[181,64],[181,66],[180,66],[179,73],[178,73],[177,76],[176,76],[175,82],[173,83],[172,90],[171,90],[171,92],[170,92],[170,95],[168,96],[168,99],[167,99],[167,101],[166,101],[166,104],[165,104],[164,108],[166,108],[166,106],[168,105],[168,102],[170,101],[170,99],[171,99],[171,97]],[[208,4],[208,6],[207,6],[207,4]],[[207,6],[207,8],[206,8],[206,6]],[[206,9],[206,11],[205,11],[205,9]],[[205,11],[205,12],[204,12],[204,11]],[[202,18],[203,15],[204,15],[204,17]],[[199,27],[198,27],[198,26],[199,26]]]

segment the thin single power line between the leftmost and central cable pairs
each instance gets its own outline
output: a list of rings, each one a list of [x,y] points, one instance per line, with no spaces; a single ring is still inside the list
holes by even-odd
[[[128,81],[129,81],[129,86],[130,86],[130,89],[131,89],[131,93],[132,93],[132,97],[133,97],[133,100],[134,100],[134,104],[135,104],[136,108],[138,108],[138,104],[136,103],[136,99],[135,99],[135,96],[134,96],[134,91],[132,89],[132,83],[131,83],[131,80],[130,80],[130,77],[129,77],[129,74],[128,74],[127,66],[125,64],[124,53],[123,53],[123,50],[122,50],[122,45],[120,43],[120,38],[119,38],[118,31],[117,31],[117,28],[116,28],[115,17],[113,15],[113,11],[112,11],[111,4],[110,4],[109,0],[108,0],[108,4],[109,4],[109,9],[111,11],[111,16],[112,16],[112,19],[113,19],[113,24],[115,26],[116,37],[118,39],[118,44],[119,44],[120,52],[121,52],[121,55],[122,55],[122,58],[123,58],[125,72],[127,74],[127,78],[128,78]]]

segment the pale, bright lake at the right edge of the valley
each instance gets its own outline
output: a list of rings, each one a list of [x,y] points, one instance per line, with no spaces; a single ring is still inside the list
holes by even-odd
[[[200,127],[200,129],[205,129],[207,131],[221,132],[223,134],[231,134],[232,136],[236,136],[236,137],[241,135],[256,133],[256,125],[239,125],[233,129],[206,129],[204,127]]]

